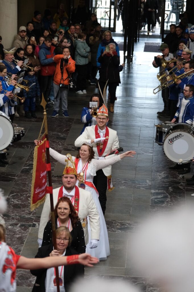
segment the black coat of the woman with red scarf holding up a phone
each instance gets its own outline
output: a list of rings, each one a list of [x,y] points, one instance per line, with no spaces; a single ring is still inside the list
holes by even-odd
[[[121,83],[119,76],[119,64],[120,58],[117,55],[113,55],[108,57],[107,55],[98,58],[98,62],[101,63],[101,68],[99,70],[100,73],[100,81],[106,82],[117,82]]]

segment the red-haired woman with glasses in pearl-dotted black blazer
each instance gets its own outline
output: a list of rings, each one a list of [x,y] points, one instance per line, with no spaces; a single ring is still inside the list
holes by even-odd
[[[84,253],[86,250],[85,240],[84,240],[84,231],[80,219],[75,212],[74,206],[71,203],[68,197],[62,197],[57,202],[55,209],[55,225],[56,229],[60,226],[68,227],[72,243],[71,246],[77,253]],[[44,233],[43,233],[43,242],[42,246],[52,243],[52,223],[51,220],[48,221]]]

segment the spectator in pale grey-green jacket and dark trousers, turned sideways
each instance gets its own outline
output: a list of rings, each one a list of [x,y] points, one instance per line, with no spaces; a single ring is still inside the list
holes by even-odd
[[[77,91],[78,94],[86,94],[86,77],[87,64],[90,52],[89,46],[86,44],[86,34],[80,32],[78,39],[75,40],[75,62],[77,70]]]

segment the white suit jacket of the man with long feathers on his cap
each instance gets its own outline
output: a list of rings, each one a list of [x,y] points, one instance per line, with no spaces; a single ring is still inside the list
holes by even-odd
[[[105,151],[104,151],[102,156],[105,156],[106,154],[110,153],[111,150],[113,150],[113,149],[119,148],[119,139],[118,139],[118,136],[117,136],[117,131],[114,131],[114,130],[112,130],[110,128],[108,128],[108,130],[109,130],[108,143],[106,145],[106,149],[105,149]],[[82,135],[80,135],[75,140],[75,146],[76,147],[81,147],[84,142],[89,142],[89,140],[92,140],[92,139],[95,139],[95,125],[85,128],[85,130],[82,133]],[[96,143],[93,143],[92,146],[93,146],[93,150],[95,152],[94,158],[99,157],[98,150],[97,150],[97,147],[96,147]],[[111,165],[103,168],[103,173],[106,176],[111,175],[111,168],[112,168]]]

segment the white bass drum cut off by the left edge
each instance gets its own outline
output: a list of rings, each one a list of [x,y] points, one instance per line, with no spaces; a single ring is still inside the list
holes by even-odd
[[[13,126],[10,118],[0,112],[0,151],[7,148],[13,139]]]

